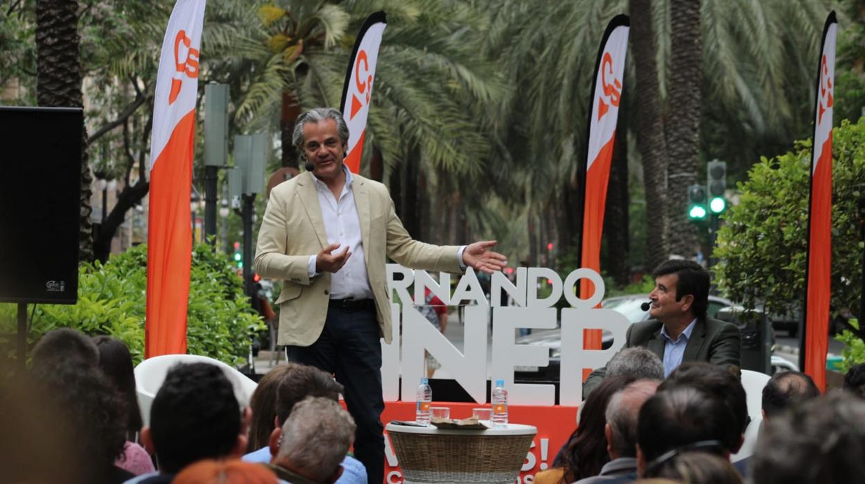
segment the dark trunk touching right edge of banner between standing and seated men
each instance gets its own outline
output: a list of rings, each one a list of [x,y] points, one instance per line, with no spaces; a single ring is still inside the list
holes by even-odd
[[[601,261],[601,267],[606,268],[606,273],[612,276],[618,287],[624,287],[631,273],[628,267],[628,123],[624,100],[618,108],[617,125],[604,211],[606,258]]]

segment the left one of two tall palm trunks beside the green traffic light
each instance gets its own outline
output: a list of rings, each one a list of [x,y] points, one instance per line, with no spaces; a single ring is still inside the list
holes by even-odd
[[[630,0],[631,18],[650,19],[650,0]],[[637,70],[637,145],[643,157],[646,197],[646,270],[670,255],[667,242],[667,145],[663,135],[661,94],[657,81],[655,35],[651,22],[631,25],[631,52]]]

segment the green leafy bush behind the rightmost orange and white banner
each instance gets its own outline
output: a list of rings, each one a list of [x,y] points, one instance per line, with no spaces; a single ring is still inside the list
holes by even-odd
[[[865,190],[865,119],[843,121],[832,141],[831,311],[859,307],[862,240],[857,203]],[[738,184],[740,202],[724,216],[718,232],[715,281],[746,308],[764,304],[767,313],[802,307],[808,244],[811,140],[794,151],[761,158]],[[854,336],[861,339],[862,332]]]

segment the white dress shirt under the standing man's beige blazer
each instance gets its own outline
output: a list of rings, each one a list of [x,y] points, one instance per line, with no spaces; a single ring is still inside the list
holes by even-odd
[[[330,276],[330,299],[372,299],[373,292],[369,288],[367,265],[363,259],[361,221],[357,217],[355,194],[351,189],[354,177],[345,165],[343,165],[343,171],[345,172],[345,186],[343,186],[339,198],[334,197],[327,184],[319,180],[315,174],[312,176],[318,195],[318,205],[322,210],[324,233],[327,236],[328,244],[340,244],[340,247],[334,251],[336,254],[342,252],[345,246],[349,246],[351,253],[343,268]],[[460,268],[465,268],[464,250],[465,245],[457,251],[457,261]],[[317,257],[317,255],[310,255],[310,261],[307,265],[310,278],[318,275],[316,272]]]

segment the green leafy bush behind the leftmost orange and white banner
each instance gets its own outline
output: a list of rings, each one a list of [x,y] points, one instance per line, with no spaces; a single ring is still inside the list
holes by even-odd
[[[113,255],[106,264],[82,264],[78,303],[37,305],[28,334],[32,346],[43,333],[72,327],[90,335],[110,334],[129,346],[138,364],[144,358],[144,315],[147,288],[147,247],[139,245]],[[14,352],[15,305],[0,305],[0,329]],[[243,281],[226,255],[208,244],[195,246],[189,281],[187,352],[240,365],[250,337],[266,326],[243,294]],[[11,340],[10,340],[11,339]]]

